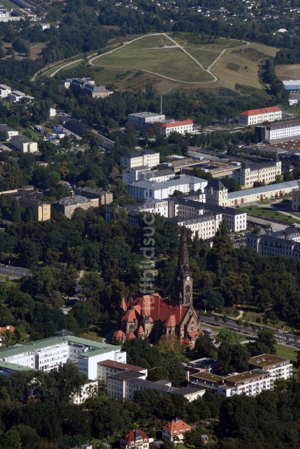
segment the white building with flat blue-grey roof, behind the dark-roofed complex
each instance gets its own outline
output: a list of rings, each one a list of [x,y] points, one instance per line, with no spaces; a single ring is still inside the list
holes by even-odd
[[[179,175],[165,182],[138,181],[127,186],[128,193],[137,201],[168,198],[175,190],[182,193],[204,189],[207,181],[196,176]]]

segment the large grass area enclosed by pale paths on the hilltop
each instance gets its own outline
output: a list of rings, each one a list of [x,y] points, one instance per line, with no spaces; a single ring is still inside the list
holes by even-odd
[[[127,49],[130,46],[127,46]],[[149,70],[159,75],[184,82],[207,82],[212,77],[201,70],[179,48],[160,48],[141,52],[116,51],[94,60],[100,66],[113,66]]]

